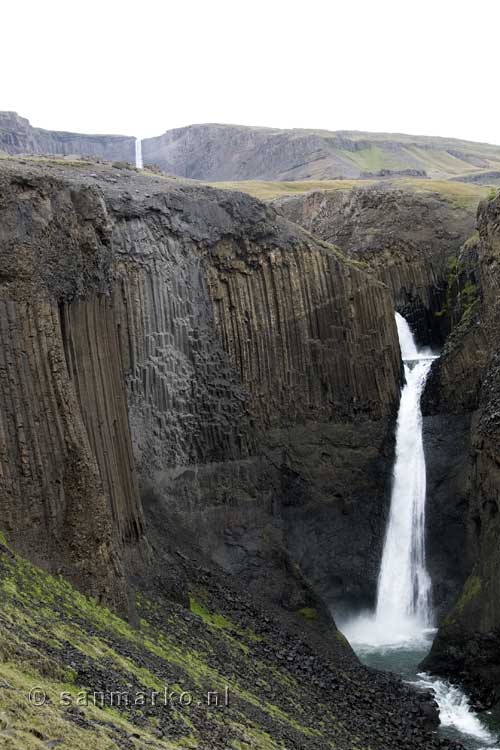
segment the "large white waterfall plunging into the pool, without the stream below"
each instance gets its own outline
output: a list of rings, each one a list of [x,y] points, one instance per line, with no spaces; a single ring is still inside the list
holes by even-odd
[[[432,353],[419,349],[396,313],[406,384],[401,393],[389,521],[378,579],[375,614],[358,617],[344,632],[356,642],[396,644],[432,625],[431,581],[425,562],[426,471],[420,398]]]

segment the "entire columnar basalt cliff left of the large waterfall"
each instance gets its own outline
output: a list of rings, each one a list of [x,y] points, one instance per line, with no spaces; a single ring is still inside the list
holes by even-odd
[[[369,597],[400,384],[388,290],[243,194],[1,172],[9,540],[120,599],[130,550],[149,554],[142,495],[153,550],[197,540],[290,610],[311,582]],[[343,517],[368,566],[339,563]]]

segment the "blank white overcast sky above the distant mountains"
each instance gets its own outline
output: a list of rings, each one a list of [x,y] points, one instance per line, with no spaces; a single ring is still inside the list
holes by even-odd
[[[500,144],[499,0],[16,0],[0,109],[147,137],[199,122]]]

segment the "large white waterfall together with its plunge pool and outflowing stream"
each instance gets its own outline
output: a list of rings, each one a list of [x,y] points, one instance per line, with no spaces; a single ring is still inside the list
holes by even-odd
[[[396,323],[406,383],[397,420],[393,488],[377,602],[374,612],[356,615],[341,626],[364,663],[398,672],[416,687],[434,692],[440,731],[445,736],[468,750],[498,748],[500,727],[493,716],[483,720],[460,688],[419,671],[435,633],[425,556],[426,466],[420,399],[436,355],[417,347],[407,321],[398,313]]]

